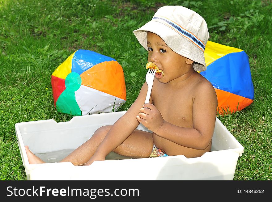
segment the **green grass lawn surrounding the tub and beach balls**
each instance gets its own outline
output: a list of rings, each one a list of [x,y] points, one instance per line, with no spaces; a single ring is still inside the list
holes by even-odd
[[[77,49],[113,57],[124,70],[127,110],[146,73],[147,52],[134,37],[163,5],[186,6],[202,15],[210,41],[249,56],[254,102],[218,116],[244,146],[234,180],[272,179],[271,1],[0,0],[0,179],[25,180],[15,123],[72,116],[56,111],[51,74]],[[135,74],[131,74],[134,72]]]

